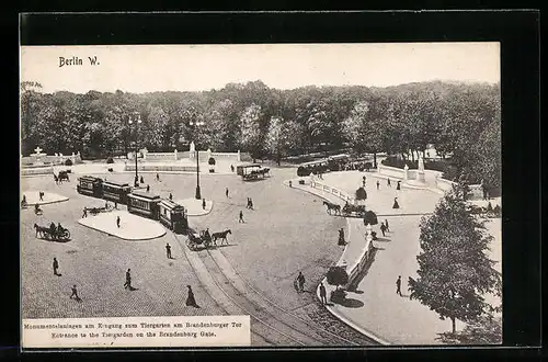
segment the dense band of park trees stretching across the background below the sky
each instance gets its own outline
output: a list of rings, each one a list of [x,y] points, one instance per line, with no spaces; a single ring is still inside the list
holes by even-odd
[[[351,147],[355,152],[414,157],[427,144],[470,167],[472,179],[500,185],[500,86],[421,82],[388,88],[271,89],[262,81],[201,92],[43,93],[21,83],[23,155],[80,150],[125,154],[136,142],[151,151],[196,147],[281,158]],[[132,128],[128,115],[142,124]],[[204,122],[193,127],[191,122]],[[414,152],[413,152],[414,151]],[[472,165],[473,163],[473,165]]]

